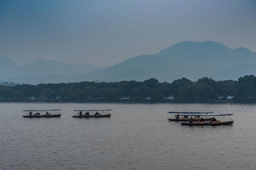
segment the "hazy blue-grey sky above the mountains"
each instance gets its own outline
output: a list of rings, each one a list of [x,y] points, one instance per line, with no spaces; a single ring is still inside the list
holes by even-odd
[[[256,52],[255,0],[0,1],[0,57],[110,66],[179,41]]]

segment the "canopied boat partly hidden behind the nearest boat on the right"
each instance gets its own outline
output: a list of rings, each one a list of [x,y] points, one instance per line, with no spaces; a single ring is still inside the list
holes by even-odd
[[[213,111],[209,111],[209,112],[180,112],[180,111],[170,111],[168,113],[173,113],[174,118],[168,118],[169,121],[172,122],[187,122],[189,121],[188,115],[182,115],[182,117],[180,117],[179,114],[210,114],[210,113],[214,113]],[[211,121],[213,120],[213,118],[202,118],[198,115],[195,115],[195,120],[204,120],[204,121]]]

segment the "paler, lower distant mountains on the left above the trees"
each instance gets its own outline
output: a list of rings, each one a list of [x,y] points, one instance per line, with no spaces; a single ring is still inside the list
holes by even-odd
[[[36,60],[29,64],[17,66],[7,57],[0,58],[0,80],[9,80],[19,83],[51,82],[56,78],[56,82],[67,81],[72,76],[90,73],[102,69],[103,67],[91,66],[84,63],[67,64],[56,60]]]

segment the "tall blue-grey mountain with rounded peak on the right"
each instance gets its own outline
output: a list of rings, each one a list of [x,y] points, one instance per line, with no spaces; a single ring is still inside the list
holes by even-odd
[[[246,71],[245,64],[251,64],[250,71]],[[143,81],[154,77],[159,81],[173,81],[182,77],[197,80],[204,76],[210,76],[216,80],[237,79],[239,76],[244,76],[243,73],[256,74],[256,67],[252,64],[256,64],[256,53],[246,48],[232,50],[214,41],[200,43],[184,41],[154,55],[140,55],[114,66],[84,74],[80,79]],[[236,71],[236,66],[242,67],[239,69],[244,71],[237,73],[239,71]],[[138,68],[141,71],[135,71]],[[227,70],[228,74],[225,73]],[[141,73],[143,75],[138,77],[137,74]]]

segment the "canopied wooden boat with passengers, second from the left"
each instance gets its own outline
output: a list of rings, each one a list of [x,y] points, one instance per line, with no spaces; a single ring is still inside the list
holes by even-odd
[[[100,118],[100,117],[110,117],[110,111],[111,110],[74,110],[74,111],[79,111],[79,113],[77,113],[77,115],[74,115],[72,117],[77,117],[77,118]],[[84,115],[83,115],[83,111],[85,111]],[[94,115],[90,115],[90,111],[95,111]],[[102,111],[102,113],[104,113],[104,111],[107,111],[108,114],[100,114],[98,111]]]

